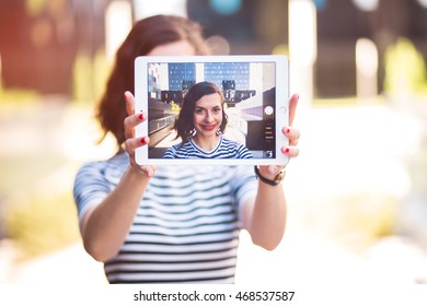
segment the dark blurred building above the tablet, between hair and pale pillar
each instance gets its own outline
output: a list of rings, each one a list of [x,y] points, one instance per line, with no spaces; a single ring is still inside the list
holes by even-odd
[[[288,42],[288,1],[187,0],[187,14],[206,37],[223,38],[233,55],[268,55]]]

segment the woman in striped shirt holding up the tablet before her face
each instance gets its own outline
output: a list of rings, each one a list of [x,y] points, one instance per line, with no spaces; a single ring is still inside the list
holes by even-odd
[[[252,167],[157,168],[135,162],[135,150],[149,142],[134,133],[147,120],[147,114],[135,114],[128,91],[135,58],[204,54],[198,24],[165,15],[136,23],[117,50],[97,118],[119,149],[107,161],[83,165],[74,183],[84,247],[104,262],[111,283],[232,283],[241,228],[266,249],[281,240],[284,188],[256,180]],[[290,122],[297,101],[290,99]],[[284,154],[297,156],[298,130],[284,132],[290,143]],[[282,168],[262,166],[259,177],[275,181]]]

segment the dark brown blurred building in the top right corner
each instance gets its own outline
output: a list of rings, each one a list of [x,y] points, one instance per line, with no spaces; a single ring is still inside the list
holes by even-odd
[[[378,87],[382,91],[384,52],[399,37],[409,38],[427,56],[427,3],[422,0],[314,0],[318,7],[319,96],[356,94],[356,42],[378,48]],[[423,4],[424,3],[424,4]]]

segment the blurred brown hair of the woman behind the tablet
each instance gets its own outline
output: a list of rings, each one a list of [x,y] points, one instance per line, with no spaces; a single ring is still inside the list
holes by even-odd
[[[115,64],[95,116],[103,138],[112,132],[117,144],[125,142],[124,120],[128,116],[124,93],[134,89],[134,62],[138,56],[149,54],[160,45],[187,40],[197,55],[207,55],[201,27],[188,19],[173,15],[154,15],[137,22],[116,52]]]

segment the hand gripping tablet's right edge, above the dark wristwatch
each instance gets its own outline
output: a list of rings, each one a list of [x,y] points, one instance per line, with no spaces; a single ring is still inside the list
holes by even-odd
[[[289,139],[289,145],[282,146],[281,152],[287,155],[289,158],[297,157],[299,154],[298,149],[298,140],[300,139],[300,131],[296,128],[292,128],[293,118],[297,110],[297,104],[299,101],[299,95],[293,94],[289,98],[289,127],[284,127],[281,132]],[[286,167],[286,165],[281,166],[261,166],[259,172],[262,175],[267,178],[274,178],[276,175]]]

